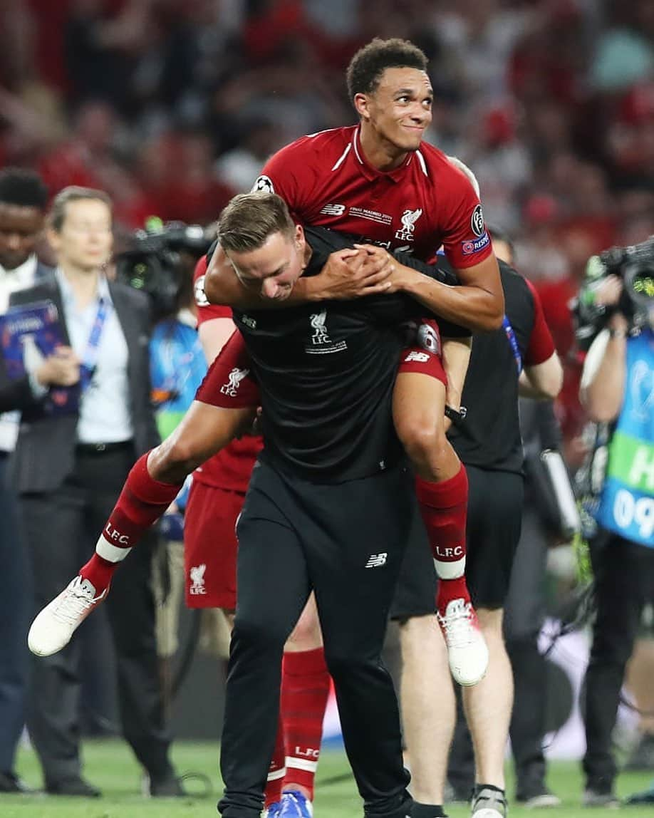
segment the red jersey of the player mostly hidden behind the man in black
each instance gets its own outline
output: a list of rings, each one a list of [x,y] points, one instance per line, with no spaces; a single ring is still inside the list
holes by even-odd
[[[204,273],[207,259],[200,258],[195,266],[195,303],[198,305],[198,327],[213,318],[230,318],[231,308],[208,303],[204,297]],[[234,440],[193,473],[193,479],[215,488],[225,488],[231,492],[246,492],[250,475],[263,441],[260,437],[244,437]]]

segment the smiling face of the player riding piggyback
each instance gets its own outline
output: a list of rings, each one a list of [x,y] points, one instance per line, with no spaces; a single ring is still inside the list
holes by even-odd
[[[381,141],[399,151],[419,148],[432,121],[433,89],[424,71],[387,68],[376,90],[360,96],[357,109]]]

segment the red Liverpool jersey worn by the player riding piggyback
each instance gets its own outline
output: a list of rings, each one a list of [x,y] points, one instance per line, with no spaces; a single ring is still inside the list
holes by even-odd
[[[468,178],[427,142],[399,168],[382,172],[365,160],[358,126],[321,131],[271,156],[253,190],[279,194],[300,222],[354,233],[423,261],[441,245],[458,269],[492,253]]]

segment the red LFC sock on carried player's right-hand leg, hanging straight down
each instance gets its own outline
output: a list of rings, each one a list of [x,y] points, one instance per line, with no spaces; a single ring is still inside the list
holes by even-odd
[[[438,575],[437,609],[445,613],[451,600],[470,600],[464,573],[468,507],[468,475],[464,465],[454,477],[441,483],[416,478],[415,491]]]

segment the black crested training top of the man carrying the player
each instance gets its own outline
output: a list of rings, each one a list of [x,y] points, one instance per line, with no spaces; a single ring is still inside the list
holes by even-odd
[[[305,227],[316,275],[352,236]],[[439,276],[432,268],[432,275]],[[262,458],[323,483],[367,477],[403,456],[392,390],[403,321],[424,314],[402,294],[267,310],[234,309],[261,387]]]

